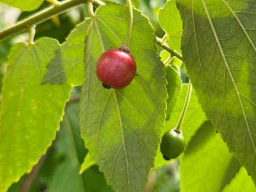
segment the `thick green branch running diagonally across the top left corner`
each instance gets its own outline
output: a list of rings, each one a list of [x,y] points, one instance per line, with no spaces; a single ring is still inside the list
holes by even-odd
[[[73,7],[82,5],[84,0],[67,0],[60,2],[58,6],[50,6],[42,11],[36,12],[28,18],[20,20],[13,27],[7,28],[0,32],[0,41],[7,39],[8,37],[19,34],[22,31],[28,30],[33,24],[39,24],[45,20],[52,18],[52,16],[59,15]],[[97,6],[97,3],[96,3]]]

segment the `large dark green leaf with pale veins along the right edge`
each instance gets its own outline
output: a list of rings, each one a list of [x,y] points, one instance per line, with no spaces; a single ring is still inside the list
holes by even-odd
[[[256,4],[177,1],[187,72],[207,117],[256,183]]]

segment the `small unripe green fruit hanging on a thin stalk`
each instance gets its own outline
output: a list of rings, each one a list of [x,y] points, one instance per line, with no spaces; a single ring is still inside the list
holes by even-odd
[[[170,160],[171,158],[177,158],[185,148],[185,139],[182,132],[174,129],[168,130],[162,136],[160,143],[160,151],[163,154],[163,158]]]

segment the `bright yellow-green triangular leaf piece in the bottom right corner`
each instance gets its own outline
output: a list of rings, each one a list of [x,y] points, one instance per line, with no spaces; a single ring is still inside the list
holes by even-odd
[[[251,192],[255,191],[255,185],[248,176],[245,168],[241,168],[236,177],[227,185],[222,192]]]

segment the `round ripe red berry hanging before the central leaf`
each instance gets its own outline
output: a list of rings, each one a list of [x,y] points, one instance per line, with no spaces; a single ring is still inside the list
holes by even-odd
[[[110,49],[104,52],[96,64],[98,79],[113,89],[122,89],[133,81],[136,62],[129,49]]]

